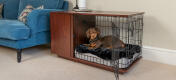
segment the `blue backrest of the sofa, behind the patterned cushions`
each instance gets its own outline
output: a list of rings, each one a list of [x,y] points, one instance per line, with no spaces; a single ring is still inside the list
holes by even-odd
[[[17,19],[26,5],[39,7],[44,5],[45,9],[61,9],[64,0],[0,0],[4,4],[3,17],[7,19]]]

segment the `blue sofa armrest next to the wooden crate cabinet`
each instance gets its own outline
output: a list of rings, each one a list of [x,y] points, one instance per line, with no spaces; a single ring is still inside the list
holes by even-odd
[[[35,34],[42,31],[50,30],[50,12],[64,11],[63,9],[41,9],[33,10],[27,16],[26,25],[31,29],[31,33]]]

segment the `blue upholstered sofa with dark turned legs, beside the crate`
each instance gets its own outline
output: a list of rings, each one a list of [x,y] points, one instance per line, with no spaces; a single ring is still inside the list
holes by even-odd
[[[4,5],[0,19],[0,45],[17,50],[17,61],[21,62],[22,49],[50,43],[50,12],[68,10],[64,0],[0,0]],[[26,5],[44,5],[45,9],[33,10],[24,24],[17,17]]]

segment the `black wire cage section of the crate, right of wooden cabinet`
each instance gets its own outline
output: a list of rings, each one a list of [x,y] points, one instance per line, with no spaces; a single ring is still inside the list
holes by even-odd
[[[119,69],[128,69],[142,57],[143,13],[80,13],[74,14],[73,19],[75,58],[113,67],[118,72]],[[93,49],[85,46],[90,44],[86,36],[86,31],[90,28],[99,29],[99,39],[111,36],[112,40],[109,41],[113,45],[112,49],[101,47],[104,44]],[[125,47],[115,48],[115,38],[119,38]]]

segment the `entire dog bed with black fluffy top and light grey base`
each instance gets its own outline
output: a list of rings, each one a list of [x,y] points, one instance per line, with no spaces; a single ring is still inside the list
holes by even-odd
[[[138,45],[125,44],[125,48],[114,49],[115,58],[119,61],[119,68],[127,68],[140,56],[141,47]],[[85,45],[75,48],[75,57],[106,66],[112,66],[112,50],[97,48],[88,49]]]

